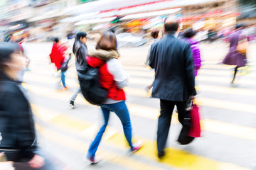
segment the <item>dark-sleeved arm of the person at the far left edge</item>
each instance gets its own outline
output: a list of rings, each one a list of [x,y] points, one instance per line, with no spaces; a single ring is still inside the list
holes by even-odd
[[[6,102],[5,112],[12,117],[12,126],[16,137],[16,148],[20,149],[19,156],[32,159],[34,157],[35,130],[33,118],[31,118],[29,103],[17,86],[11,86],[11,91],[7,91],[4,97]],[[13,104],[11,104],[13,103]]]

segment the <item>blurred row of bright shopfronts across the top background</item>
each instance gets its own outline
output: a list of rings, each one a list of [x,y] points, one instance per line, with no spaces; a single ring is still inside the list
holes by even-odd
[[[255,24],[255,16],[240,13],[238,7],[236,0],[1,0],[0,35],[26,33],[30,40],[50,40],[72,30],[95,33],[109,28],[146,35],[161,28],[168,15],[176,15],[183,29],[231,28],[238,19]]]

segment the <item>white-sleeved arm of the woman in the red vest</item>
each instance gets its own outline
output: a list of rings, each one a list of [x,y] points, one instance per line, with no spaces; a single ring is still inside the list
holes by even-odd
[[[122,64],[119,60],[112,59],[107,62],[107,69],[109,70],[110,74],[113,75],[114,81],[116,81],[119,89],[123,89],[124,86],[127,86],[128,74],[124,72]]]

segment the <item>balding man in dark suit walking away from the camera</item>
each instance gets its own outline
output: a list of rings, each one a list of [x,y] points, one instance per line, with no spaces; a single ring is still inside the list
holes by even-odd
[[[164,29],[166,36],[151,45],[149,56],[149,66],[156,72],[152,97],[159,98],[161,106],[157,130],[159,158],[164,156],[174,106],[183,125],[188,114],[186,103],[196,95],[191,47],[176,38],[179,25],[175,18],[166,18]]]

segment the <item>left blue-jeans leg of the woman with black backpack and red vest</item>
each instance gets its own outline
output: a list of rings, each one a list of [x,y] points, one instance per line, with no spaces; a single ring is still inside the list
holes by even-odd
[[[104,117],[104,124],[100,128],[99,132],[97,132],[95,140],[93,140],[93,142],[91,143],[91,145],[88,149],[88,153],[87,153],[88,159],[90,159],[90,158],[93,159],[95,157],[95,153],[97,151],[97,148],[100,145],[100,140],[102,139],[102,135],[107,128],[107,123],[110,118],[110,111],[107,108],[104,108],[104,106],[101,106],[101,109],[102,109],[102,113],[103,113],[103,117]]]

